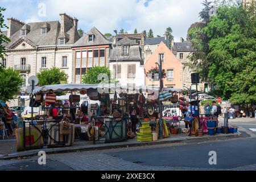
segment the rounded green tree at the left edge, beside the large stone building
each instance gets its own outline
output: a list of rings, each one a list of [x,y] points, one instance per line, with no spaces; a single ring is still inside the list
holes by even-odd
[[[20,92],[23,78],[13,68],[0,69],[0,100],[10,101]]]

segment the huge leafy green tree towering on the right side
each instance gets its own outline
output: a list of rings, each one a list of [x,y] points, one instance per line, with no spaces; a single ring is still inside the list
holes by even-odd
[[[193,24],[188,40],[197,50],[190,57],[190,67],[200,72],[203,80],[215,82],[222,98],[236,104],[256,103],[256,15],[255,3],[244,7],[230,1],[218,6],[217,15]]]

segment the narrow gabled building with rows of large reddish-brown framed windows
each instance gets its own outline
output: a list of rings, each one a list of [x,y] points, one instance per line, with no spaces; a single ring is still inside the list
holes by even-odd
[[[73,44],[73,82],[80,84],[82,75],[95,65],[109,67],[112,44],[96,27]]]

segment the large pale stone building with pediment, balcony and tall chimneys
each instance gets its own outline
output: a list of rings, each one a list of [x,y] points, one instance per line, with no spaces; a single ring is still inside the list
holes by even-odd
[[[43,69],[57,67],[68,74],[72,82],[72,45],[79,40],[76,18],[61,13],[60,22],[24,23],[9,18],[8,29],[3,32],[11,40],[4,43],[6,67],[20,72],[24,78],[23,94],[27,92],[28,78]],[[15,101],[13,105],[20,105]]]

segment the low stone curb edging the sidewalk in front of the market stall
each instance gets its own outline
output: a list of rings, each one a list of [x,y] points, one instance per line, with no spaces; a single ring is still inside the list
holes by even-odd
[[[32,156],[38,156],[39,151],[45,151],[46,154],[61,154],[61,153],[69,153],[69,152],[81,152],[81,151],[93,151],[93,150],[108,150],[113,148],[127,148],[127,147],[139,147],[139,146],[153,146],[159,144],[168,144],[168,143],[196,143],[196,142],[208,142],[210,140],[221,140],[221,139],[229,139],[239,137],[241,133],[238,131],[236,134],[228,134],[228,135],[214,135],[207,137],[181,137],[175,140],[158,140],[156,142],[143,142],[138,143],[137,141],[129,142],[129,143],[108,143],[106,145],[102,144],[94,144],[93,146],[71,146],[71,147],[60,147],[60,148],[40,148],[30,151],[22,151],[16,152],[13,154],[2,155],[0,156],[0,160],[10,160],[10,159],[18,159],[18,158],[27,158]],[[203,141],[202,141],[203,139]]]

